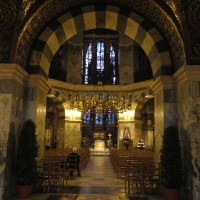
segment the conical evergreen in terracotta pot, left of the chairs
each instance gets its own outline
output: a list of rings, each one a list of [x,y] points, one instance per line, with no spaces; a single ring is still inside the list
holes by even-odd
[[[16,184],[20,199],[31,196],[32,186],[37,179],[38,145],[35,132],[35,123],[31,119],[26,120],[19,135],[15,166]],[[21,192],[21,189],[25,189],[25,194],[23,191]]]

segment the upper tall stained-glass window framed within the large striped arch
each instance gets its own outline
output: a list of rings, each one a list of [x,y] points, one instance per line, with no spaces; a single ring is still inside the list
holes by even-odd
[[[108,29],[85,31],[82,83],[116,85],[118,75],[118,33]]]

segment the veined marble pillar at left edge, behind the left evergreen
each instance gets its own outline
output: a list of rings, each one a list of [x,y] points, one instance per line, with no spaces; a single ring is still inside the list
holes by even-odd
[[[0,64],[0,199],[15,192],[14,156],[27,77],[28,73],[17,64]]]

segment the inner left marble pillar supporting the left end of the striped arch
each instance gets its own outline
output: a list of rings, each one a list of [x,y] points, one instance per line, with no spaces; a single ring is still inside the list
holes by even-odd
[[[46,100],[49,90],[47,80],[41,75],[30,75],[27,81],[24,119],[36,123],[36,135],[39,144],[38,160],[44,154]]]

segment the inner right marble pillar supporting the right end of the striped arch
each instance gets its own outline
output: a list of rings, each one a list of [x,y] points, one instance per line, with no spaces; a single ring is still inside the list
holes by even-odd
[[[154,93],[155,157],[160,160],[162,135],[169,125],[177,126],[177,105],[173,76],[160,76],[152,86]]]

